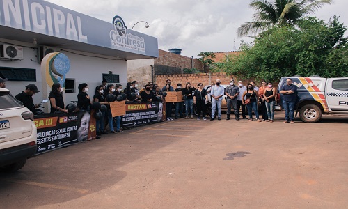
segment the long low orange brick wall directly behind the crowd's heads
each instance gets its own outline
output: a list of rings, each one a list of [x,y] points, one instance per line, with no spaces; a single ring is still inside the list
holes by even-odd
[[[199,74],[180,74],[180,75],[157,75],[156,84],[161,88],[166,84],[166,79],[171,79],[171,85],[176,88],[177,83],[181,83],[184,87],[187,82],[191,83],[191,86],[197,87],[198,83],[203,83],[203,86],[209,85],[211,82],[215,82],[216,79],[221,80],[221,84],[230,84],[231,79],[235,79],[235,83],[238,82],[237,78],[232,75],[226,75],[226,72],[216,73],[199,73]],[[246,83],[245,83],[246,84]]]

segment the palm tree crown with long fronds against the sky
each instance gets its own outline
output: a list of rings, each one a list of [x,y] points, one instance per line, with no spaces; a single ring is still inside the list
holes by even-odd
[[[303,17],[322,8],[333,0],[251,0],[249,6],[255,8],[252,22],[239,26],[239,37],[264,31],[272,26],[296,25]]]

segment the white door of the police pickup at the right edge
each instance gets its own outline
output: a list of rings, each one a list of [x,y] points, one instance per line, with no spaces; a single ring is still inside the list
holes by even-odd
[[[332,112],[348,114],[348,78],[327,79],[326,102]]]

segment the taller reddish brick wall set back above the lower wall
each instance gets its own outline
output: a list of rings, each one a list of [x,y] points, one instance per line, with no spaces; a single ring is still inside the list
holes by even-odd
[[[191,69],[191,62],[191,57],[159,50],[159,56],[155,59],[154,64],[177,67],[183,70],[184,68]],[[193,59],[193,68],[203,71],[203,64],[198,59]]]

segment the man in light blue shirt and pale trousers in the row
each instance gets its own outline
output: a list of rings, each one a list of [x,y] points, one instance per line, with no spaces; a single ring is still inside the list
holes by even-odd
[[[223,86],[220,86],[221,81],[219,79],[216,79],[215,86],[212,87],[211,95],[212,95],[212,118],[210,118],[210,121],[215,120],[215,111],[216,107],[218,109],[218,120],[221,120],[221,102],[223,95],[225,94],[225,88]]]

